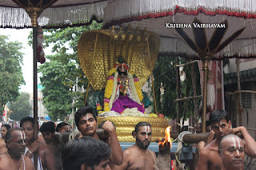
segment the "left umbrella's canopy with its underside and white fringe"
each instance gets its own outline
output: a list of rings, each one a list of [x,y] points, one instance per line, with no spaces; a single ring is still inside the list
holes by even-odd
[[[0,0],[0,27],[31,27],[30,17],[22,5],[38,3],[40,8],[49,2],[54,3],[42,11],[38,26],[80,26],[90,23],[92,18],[102,20],[103,9],[110,0]]]

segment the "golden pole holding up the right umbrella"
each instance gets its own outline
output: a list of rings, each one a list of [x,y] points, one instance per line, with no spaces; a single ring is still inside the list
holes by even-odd
[[[208,79],[208,60],[202,61],[203,76],[203,97],[202,97],[202,132],[206,132],[206,111],[207,111],[207,79]]]

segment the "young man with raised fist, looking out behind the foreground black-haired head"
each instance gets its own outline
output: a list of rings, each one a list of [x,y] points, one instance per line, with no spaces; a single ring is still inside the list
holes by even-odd
[[[74,120],[78,130],[82,133],[82,136],[92,136],[99,140],[96,132],[98,125],[94,109],[89,106],[84,106],[78,109],[74,114]],[[122,148],[119,144],[114,125],[110,121],[106,121],[102,126],[102,129],[109,135],[109,139],[106,140],[106,144],[109,144],[112,150],[110,156],[110,168],[111,166],[122,164]]]

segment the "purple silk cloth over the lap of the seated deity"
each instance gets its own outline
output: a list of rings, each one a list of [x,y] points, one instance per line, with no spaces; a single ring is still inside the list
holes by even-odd
[[[139,105],[136,101],[133,101],[128,96],[119,96],[118,99],[114,101],[111,110],[117,113],[122,113],[123,110],[126,108],[138,108],[138,111],[140,111],[141,113],[145,112],[145,109],[142,107],[142,105]]]

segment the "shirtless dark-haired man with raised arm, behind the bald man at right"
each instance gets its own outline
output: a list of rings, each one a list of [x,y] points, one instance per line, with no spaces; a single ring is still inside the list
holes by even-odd
[[[218,156],[218,144],[223,136],[230,133],[242,132],[245,142],[245,152],[248,156],[256,157],[256,142],[250,136],[245,127],[231,128],[230,115],[224,110],[214,110],[210,113],[211,126],[215,133],[215,139],[202,149],[198,160],[198,170],[221,169],[222,161]]]

